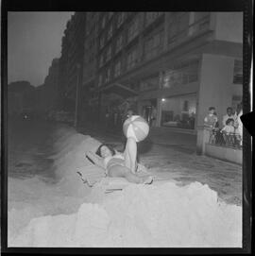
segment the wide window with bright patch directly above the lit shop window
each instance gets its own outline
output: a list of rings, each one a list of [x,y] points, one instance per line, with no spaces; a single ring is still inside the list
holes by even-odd
[[[195,82],[198,79],[198,60],[184,63],[165,72],[163,88]]]

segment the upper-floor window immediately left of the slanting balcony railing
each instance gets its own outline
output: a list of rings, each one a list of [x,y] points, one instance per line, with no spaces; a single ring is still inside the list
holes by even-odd
[[[159,53],[161,53],[162,43],[163,43],[162,31],[148,38],[144,44],[145,60],[154,58]]]

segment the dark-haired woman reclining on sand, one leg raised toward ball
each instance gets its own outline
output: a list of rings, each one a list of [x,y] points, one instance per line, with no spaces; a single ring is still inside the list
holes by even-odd
[[[133,183],[151,184],[151,176],[139,177],[137,170],[137,144],[134,138],[128,137],[125,151],[123,154],[115,151],[110,145],[100,145],[95,154],[89,151],[86,156],[94,164],[105,169],[109,177],[121,177]]]

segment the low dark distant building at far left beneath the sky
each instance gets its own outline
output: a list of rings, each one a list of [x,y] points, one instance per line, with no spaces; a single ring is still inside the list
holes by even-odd
[[[8,84],[8,116],[32,110],[35,104],[35,87],[28,81],[15,81]]]

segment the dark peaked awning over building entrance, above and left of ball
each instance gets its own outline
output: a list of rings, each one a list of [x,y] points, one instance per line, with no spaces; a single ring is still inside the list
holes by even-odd
[[[101,92],[103,94],[118,94],[124,98],[138,95],[138,92],[120,83],[110,84],[109,86],[102,88]]]

